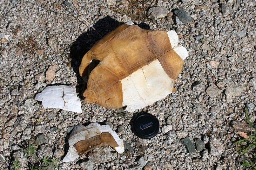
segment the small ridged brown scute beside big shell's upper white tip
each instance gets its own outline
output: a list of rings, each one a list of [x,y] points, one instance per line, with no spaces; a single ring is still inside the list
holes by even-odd
[[[149,30],[147,40],[148,41],[146,42],[149,50],[155,53],[158,57],[172,49],[172,45],[166,31]]]

